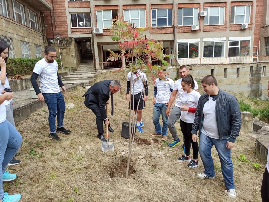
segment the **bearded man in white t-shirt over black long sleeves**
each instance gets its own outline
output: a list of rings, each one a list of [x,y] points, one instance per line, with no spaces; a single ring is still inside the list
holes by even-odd
[[[58,63],[55,61],[56,50],[53,47],[45,48],[44,58],[39,60],[33,70],[31,76],[31,83],[35,89],[36,95],[39,102],[44,102],[48,105],[49,110],[49,126],[51,133],[49,138],[54,140],[60,140],[56,132],[69,134],[71,131],[66,130],[63,127],[63,119],[65,116],[65,100],[64,96],[60,92],[60,87],[62,92],[66,93],[64,84],[58,75]],[[36,79],[39,77],[40,88],[38,87]],[[55,127],[55,117],[57,115],[57,130]]]

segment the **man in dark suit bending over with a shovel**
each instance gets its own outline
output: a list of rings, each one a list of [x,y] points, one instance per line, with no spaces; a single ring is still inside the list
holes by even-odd
[[[109,103],[108,100],[111,95],[111,114],[113,115],[113,94],[120,90],[120,86],[120,81],[118,80],[100,81],[91,86],[91,88],[89,88],[87,92],[85,92],[85,94],[82,96],[85,96],[85,106],[91,109],[96,115],[96,126],[98,130],[97,137],[103,142],[106,142],[106,139],[103,135],[103,120],[105,125],[109,124],[109,120],[106,116],[106,103]],[[108,129],[110,132],[114,132],[114,130],[110,127],[110,124]]]

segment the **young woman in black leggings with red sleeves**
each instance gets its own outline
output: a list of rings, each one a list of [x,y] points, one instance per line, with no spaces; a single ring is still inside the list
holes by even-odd
[[[181,161],[190,162],[188,167],[195,168],[199,166],[198,153],[199,145],[192,140],[192,124],[195,117],[196,107],[200,98],[200,94],[194,90],[194,80],[192,75],[187,75],[182,79],[181,86],[183,89],[181,98],[181,115],[180,115],[180,128],[185,139],[186,153],[184,156],[178,158]],[[193,160],[190,158],[190,148],[192,144]]]

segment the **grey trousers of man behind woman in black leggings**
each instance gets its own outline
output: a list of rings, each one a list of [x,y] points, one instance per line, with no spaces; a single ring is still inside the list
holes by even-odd
[[[174,140],[178,139],[177,135],[177,129],[175,128],[175,123],[178,121],[181,115],[181,109],[177,106],[172,107],[172,112],[170,113],[167,126],[169,128],[170,133],[172,134]],[[183,137],[183,142],[184,142],[184,137]]]

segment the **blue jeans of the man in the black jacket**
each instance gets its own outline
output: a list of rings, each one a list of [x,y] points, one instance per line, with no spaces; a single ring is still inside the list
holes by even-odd
[[[227,139],[220,140],[206,136],[200,132],[199,152],[204,164],[204,174],[208,177],[215,176],[214,162],[211,156],[211,149],[215,145],[221,162],[222,176],[227,189],[234,189],[233,163],[231,160],[231,150],[226,148]]]

